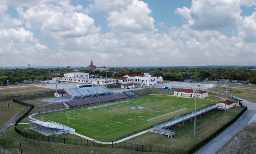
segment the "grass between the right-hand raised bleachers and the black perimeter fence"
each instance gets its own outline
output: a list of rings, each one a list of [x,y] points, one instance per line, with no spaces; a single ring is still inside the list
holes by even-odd
[[[170,147],[179,150],[189,150],[196,144],[204,140],[206,137],[217,131],[220,127],[225,125],[228,121],[235,118],[236,115],[242,109],[239,106],[234,106],[227,110],[227,114],[222,111],[212,111],[200,116],[196,119],[196,137],[194,137],[194,120],[192,122],[187,120],[187,124],[181,128],[176,125],[176,137],[167,137],[166,135],[160,135],[153,132],[147,132],[142,135],[136,136],[127,140],[128,143],[141,144],[141,145],[160,145],[164,147]]]

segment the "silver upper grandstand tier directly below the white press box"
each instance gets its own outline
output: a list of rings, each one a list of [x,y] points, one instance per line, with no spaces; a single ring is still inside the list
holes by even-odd
[[[82,83],[81,83],[82,84]],[[83,99],[84,97],[94,97],[94,96],[104,96],[112,94],[112,92],[105,86],[95,86],[95,87],[81,87],[81,84],[77,84],[77,87],[67,88],[64,91],[68,94],[70,100],[73,99]]]

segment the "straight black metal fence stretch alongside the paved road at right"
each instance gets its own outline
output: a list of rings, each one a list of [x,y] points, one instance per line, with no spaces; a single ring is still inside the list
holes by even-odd
[[[242,110],[234,119],[230,120],[226,125],[224,125],[223,127],[221,127],[220,129],[218,129],[216,132],[212,133],[212,135],[208,136],[207,138],[205,138],[202,142],[198,143],[196,146],[194,146],[192,149],[188,150],[188,154],[192,154],[194,152],[196,152],[196,150],[198,150],[199,148],[201,148],[204,144],[206,144],[207,142],[211,141],[215,136],[217,136],[218,134],[220,134],[223,130],[225,130],[226,128],[228,128],[228,126],[230,126],[231,124],[233,124],[247,109],[247,106],[243,105],[244,110]]]

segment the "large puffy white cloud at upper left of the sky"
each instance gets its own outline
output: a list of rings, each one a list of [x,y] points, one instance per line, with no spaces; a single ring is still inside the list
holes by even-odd
[[[52,37],[77,37],[100,31],[93,26],[94,20],[87,14],[76,12],[82,10],[81,5],[72,6],[69,1],[58,4],[41,4],[18,13],[25,20],[27,28],[40,29],[45,35]]]

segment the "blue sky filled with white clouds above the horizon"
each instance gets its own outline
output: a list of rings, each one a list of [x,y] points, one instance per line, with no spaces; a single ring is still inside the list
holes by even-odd
[[[3,66],[256,65],[255,0],[0,0]],[[15,59],[15,60],[14,60]]]

